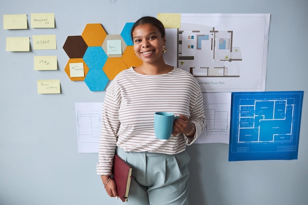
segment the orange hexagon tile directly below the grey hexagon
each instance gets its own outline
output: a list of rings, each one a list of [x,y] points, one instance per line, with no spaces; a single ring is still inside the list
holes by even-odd
[[[127,69],[127,66],[120,57],[108,58],[103,67],[103,71],[105,72],[109,80],[113,80],[118,73],[125,69]]]

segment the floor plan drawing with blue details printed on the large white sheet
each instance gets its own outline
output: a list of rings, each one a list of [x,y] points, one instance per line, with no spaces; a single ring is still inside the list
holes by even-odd
[[[240,77],[239,47],[233,47],[233,31],[181,24],[178,31],[179,67],[189,67],[199,77]]]

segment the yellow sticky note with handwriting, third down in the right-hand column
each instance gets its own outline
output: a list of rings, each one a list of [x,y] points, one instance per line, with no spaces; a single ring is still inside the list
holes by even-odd
[[[57,56],[34,56],[34,70],[57,69]]]

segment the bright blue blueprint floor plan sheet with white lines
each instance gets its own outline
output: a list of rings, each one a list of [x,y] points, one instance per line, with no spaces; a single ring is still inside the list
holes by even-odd
[[[229,161],[297,159],[303,95],[233,92]]]

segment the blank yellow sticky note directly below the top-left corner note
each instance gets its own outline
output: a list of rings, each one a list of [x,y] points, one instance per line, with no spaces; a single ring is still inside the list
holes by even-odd
[[[30,38],[6,37],[6,51],[30,51]]]

